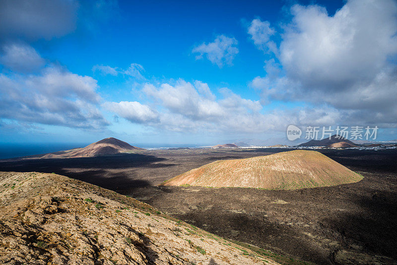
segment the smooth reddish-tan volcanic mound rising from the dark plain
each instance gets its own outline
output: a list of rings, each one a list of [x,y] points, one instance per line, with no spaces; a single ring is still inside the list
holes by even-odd
[[[218,160],[162,185],[295,190],[353,183],[362,178],[320,152],[293,150],[245,159]]]

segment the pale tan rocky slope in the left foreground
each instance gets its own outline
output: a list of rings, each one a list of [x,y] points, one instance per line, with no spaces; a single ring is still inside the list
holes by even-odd
[[[0,172],[0,264],[277,263],[94,185]]]

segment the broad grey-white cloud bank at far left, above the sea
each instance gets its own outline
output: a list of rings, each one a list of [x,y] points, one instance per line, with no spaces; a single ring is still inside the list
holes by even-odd
[[[0,74],[0,117],[33,124],[100,129],[96,80],[48,66],[37,75]]]

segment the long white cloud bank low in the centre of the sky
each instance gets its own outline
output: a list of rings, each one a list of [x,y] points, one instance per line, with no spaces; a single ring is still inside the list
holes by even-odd
[[[104,106],[132,123],[173,132],[284,131],[287,125],[297,121],[292,112],[285,110],[263,114],[259,101],[242,98],[228,88],[220,89],[222,97],[217,98],[201,81],[146,83],[142,92],[153,101],[151,104],[109,102]]]

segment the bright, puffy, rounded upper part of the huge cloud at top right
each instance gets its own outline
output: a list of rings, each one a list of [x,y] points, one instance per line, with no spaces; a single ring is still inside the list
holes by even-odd
[[[294,5],[280,61],[305,86],[343,89],[372,80],[397,53],[396,2],[350,0],[334,16],[324,7]]]

